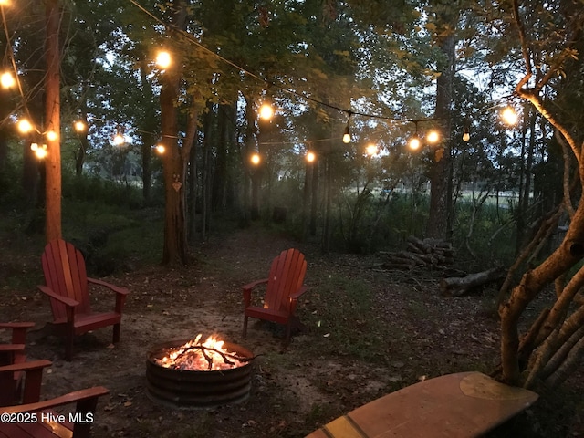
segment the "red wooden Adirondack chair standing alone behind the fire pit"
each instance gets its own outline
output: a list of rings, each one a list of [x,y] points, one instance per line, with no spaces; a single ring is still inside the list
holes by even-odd
[[[307,290],[307,287],[303,286],[306,272],[307,261],[304,255],[297,249],[291,248],[276,256],[267,278],[242,287],[245,307],[244,338],[247,335],[247,319],[252,317],[284,324],[286,326],[285,343],[286,345],[289,343],[291,326],[300,326],[294,312],[298,297]],[[253,306],[252,289],[262,284],[267,285],[264,306]]]

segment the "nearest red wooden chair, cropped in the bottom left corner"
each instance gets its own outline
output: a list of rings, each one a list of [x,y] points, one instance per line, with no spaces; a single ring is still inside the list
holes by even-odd
[[[21,364],[0,367],[0,384],[9,379],[15,371],[24,372],[25,389],[21,402],[13,406],[0,407],[0,415],[25,413],[15,417],[15,421],[0,422],[0,437],[2,438],[89,438],[90,426],[94,420],[94,412],[98,398],[109,391],[96,386],[87,390],[69,392],[66,395],[47,401],[40,400],[43,369],[51,365],[49,360],[35,360]],[[19,401],[20,402],[20,401]],[[65,415],[64,421],[57,418],[53,408],[76,403],[74,418]],[[48,417],[52,414],[52,417]],[[11,417],[7,417],[10,419]],[[23,419],[22,421],[16,421]],[[24,419],[28,421],[24,421]],[[76,420],[71,422],[70,420]]]

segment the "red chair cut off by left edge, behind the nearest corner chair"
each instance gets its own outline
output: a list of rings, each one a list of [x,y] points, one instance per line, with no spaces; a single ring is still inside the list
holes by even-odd
[[[0,344],[0,366],[24,363],[26,360],[25,341],[26,330],[34,327],[34,322],[0,322],[0,329],[12,330],[11,343]],[[5,381],[0,382],[0,406],[11,404],[22,391],[23,372],[16,370],[12,375],[5,375]]]

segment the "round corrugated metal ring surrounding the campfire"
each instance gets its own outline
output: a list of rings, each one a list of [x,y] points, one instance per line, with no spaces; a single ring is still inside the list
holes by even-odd
[[[245,401],[251,390],[251,362],[229,370],[174,370],[156,363],[168,349],[179,348],[190,339],[171,340],[151,348],[146,360],[146,381],[152,401],[173,408],[214,408]],[[224,343],[224,348],[238,356],[253,359],[244,347]]]

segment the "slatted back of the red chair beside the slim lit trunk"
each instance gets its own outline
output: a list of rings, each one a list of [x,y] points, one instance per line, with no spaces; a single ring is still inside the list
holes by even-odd
[[[45,246],[41,260],[47,287],[57,295],[78,301],[76,313],[91,313],[87,270],[81,252],[68,242],[57,239]],[[53,318],[66,318],[65,305],[56,299],[50,301]]]

